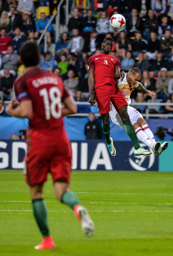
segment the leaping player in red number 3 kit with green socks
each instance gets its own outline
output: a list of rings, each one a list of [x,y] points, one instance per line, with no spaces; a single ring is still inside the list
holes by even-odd
[[[101,46],[101,53],[91,56],[88,59],[89,103],[94,105],[97,101],[99,114],[103,121],[103,132],[109,152],[112,156],[116,155],[113,140],[110,137],[109,103],[111,101],[122,119],[125,132],[133,142],[135,148],[134,154],[150,155],[151,152],[146,151],[139,145],[137,136],[127,113],[128,103],[116,84],[117,79],[121,78],[121,80],[123,80],[125,73],[124,71],[120,72],[120,61],[116,57],[109,55],[114,46],[114,39],[106,37]],[[93,91],[95,92],[95,95],[93,94]]]

